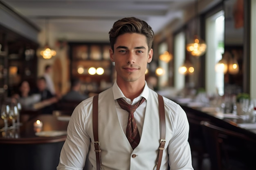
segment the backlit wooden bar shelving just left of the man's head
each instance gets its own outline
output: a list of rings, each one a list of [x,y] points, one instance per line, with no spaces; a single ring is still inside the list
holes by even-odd
[[[110,87],[115,74],[108,43],[69,43],[70,75],[81,79],[82,91],[99,93]]]

